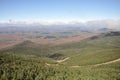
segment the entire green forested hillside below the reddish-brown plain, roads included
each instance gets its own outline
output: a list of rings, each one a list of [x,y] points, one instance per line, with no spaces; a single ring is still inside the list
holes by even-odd
[[[0,79],[119,80],[119,33],[53,46],[24,41],[0,51]]]

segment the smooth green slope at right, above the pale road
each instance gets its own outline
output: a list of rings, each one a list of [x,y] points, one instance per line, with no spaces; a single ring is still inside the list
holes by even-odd
[[[57,53],[70,57],[63,64],[93,65],[120,58],[120,35],[109,32],[94,37],[96,38],[91,37],[78,43],[62,45],[64,49]]]

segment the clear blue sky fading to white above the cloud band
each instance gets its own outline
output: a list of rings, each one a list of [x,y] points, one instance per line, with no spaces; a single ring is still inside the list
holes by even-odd
[[[120,0],[0,0],[0,22],[120,19]]]

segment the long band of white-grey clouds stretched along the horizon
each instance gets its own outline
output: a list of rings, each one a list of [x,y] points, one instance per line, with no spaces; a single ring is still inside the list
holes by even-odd
[[[0,26],[43,26],[43,27],[84,27],[84,28],[110,28],[120,29],[120,20],[94,20],[87,22],[71,21],[71,22],[12,22],[0,23]]]

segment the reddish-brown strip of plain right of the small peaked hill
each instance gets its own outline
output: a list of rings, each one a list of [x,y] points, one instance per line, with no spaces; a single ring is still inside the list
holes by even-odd
[[[69,38],[62,38],[62,39],[28,39],[32,42],[39,43],[39,44],[51,44],[51,45],[60,45],[60,44],[67,44],[71,42],[79,42],[81,40],[93,37],[97,34],[89,34],[89,35],[82,35],[82,36],[73,36]]]

